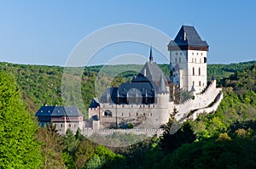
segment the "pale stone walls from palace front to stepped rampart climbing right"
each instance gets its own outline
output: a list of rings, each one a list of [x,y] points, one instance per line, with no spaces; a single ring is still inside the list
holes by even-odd
[[[100,121],[101,129],[115,128],[116,124],[118,127],[124,127],[128,123],[137,128],[159,128],[166,124],[174,108],[177,109],[176,121],[186,120],[192,110],[195,114],[191,116],[191,119],[195,120],[195,116],[203,111],[217,110],[223,97],[220,95],[221,90],[221,88],[216,88],[214,80],[203,93],[195,94],[195,99],[188,99],[183,104],[174,104],[170,101],[169,93],[158,94],[155,104],[101,104],[101,108],[89,110],[89,121],[93,121],[92,117],[95,116],[96,120]],[[212,106],[208,107],[210,104]],[[111,112],[111,115],[105,115],[105,111]]]

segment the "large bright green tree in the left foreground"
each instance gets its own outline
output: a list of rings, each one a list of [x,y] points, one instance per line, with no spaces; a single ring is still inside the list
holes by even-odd
[[[0,168],[39,168],[36,124],[26,112],[15,79],[0,72]]]

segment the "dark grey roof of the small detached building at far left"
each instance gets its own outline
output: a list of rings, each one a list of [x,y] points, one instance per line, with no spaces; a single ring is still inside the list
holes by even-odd
[[[42,106],[38,112],[37,116],[83,116],[76,106]]]

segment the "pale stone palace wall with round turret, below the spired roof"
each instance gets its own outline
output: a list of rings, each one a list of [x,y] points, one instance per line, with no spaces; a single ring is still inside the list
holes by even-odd
[[[116,123],[119,127],[131,123],[137,128],[159,128],[172,113],[173,102],[169,99],[170,94],[162,93],[158,94],[156,104],[101,104],[101,108],[89,110],[89,120],[96,115],[101,121],[100,128],[113,128]],[[111,115],[105,115],[105,111]]]

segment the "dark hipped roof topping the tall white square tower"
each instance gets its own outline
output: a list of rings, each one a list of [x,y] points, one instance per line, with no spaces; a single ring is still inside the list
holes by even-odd
[[[178,31],[174,41],[171,41],[168,46],[198,46],[208,47],[206,41],[202,41],[201,37],[195,30],[194,26],[183,25]]]

